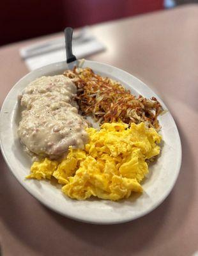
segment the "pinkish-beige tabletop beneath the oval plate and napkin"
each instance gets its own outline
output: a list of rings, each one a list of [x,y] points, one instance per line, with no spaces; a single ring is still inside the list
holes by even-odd
[[[178,180],[164,203],[148,215],[119,225],[91,225],[41,205],[11,175],[1,156],[2,254],[194,255],[198,250],[198,5],[97,24],[91,29],[107,51],[89,60],[109,63],[139,77],[174,116],[183,148]],[[1,104],[13,84],[28,72],[19,48],[42,39],[1,47]]]

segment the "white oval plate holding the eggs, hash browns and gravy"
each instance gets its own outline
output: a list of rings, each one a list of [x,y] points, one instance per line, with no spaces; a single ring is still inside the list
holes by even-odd
[[[90,67],[102,76],[108,76],[120,81],[123,86],[130,89],[136,95],[144,97],[156,97],[167,109],[160,98],[152,90],[136,77],[118,68],[94,61],[84,61],[82,67]],[[171,192],[179,174],[181,165],[181,142],[178,129],[171,116],[167,112],[159,116],[162,125],[162,154],[155,164],[149,167],[148,179],[144,181],[144,193],[135,198],[131,196],[127,200],[111,202],[108,200],[90,199],[85,201],[72,200],[61,192],[61,189],[50,184],[47,180],[25,180],[31,166],[31,159],[23,151],[17,127],[20,121],[20,109],[17,95],[28,83],[40,76],[54,76],[62,74],[68,68],[66,62],[54,63],[34,70],[15,84],[4,100],[0,115],[1,150],[4,159],[11,172],[20,184],[50,209],[69,218],[79,221],[98,224],[122,223],[135,220],[160,205]],[[70,67],[71,68],[71,67]]]

